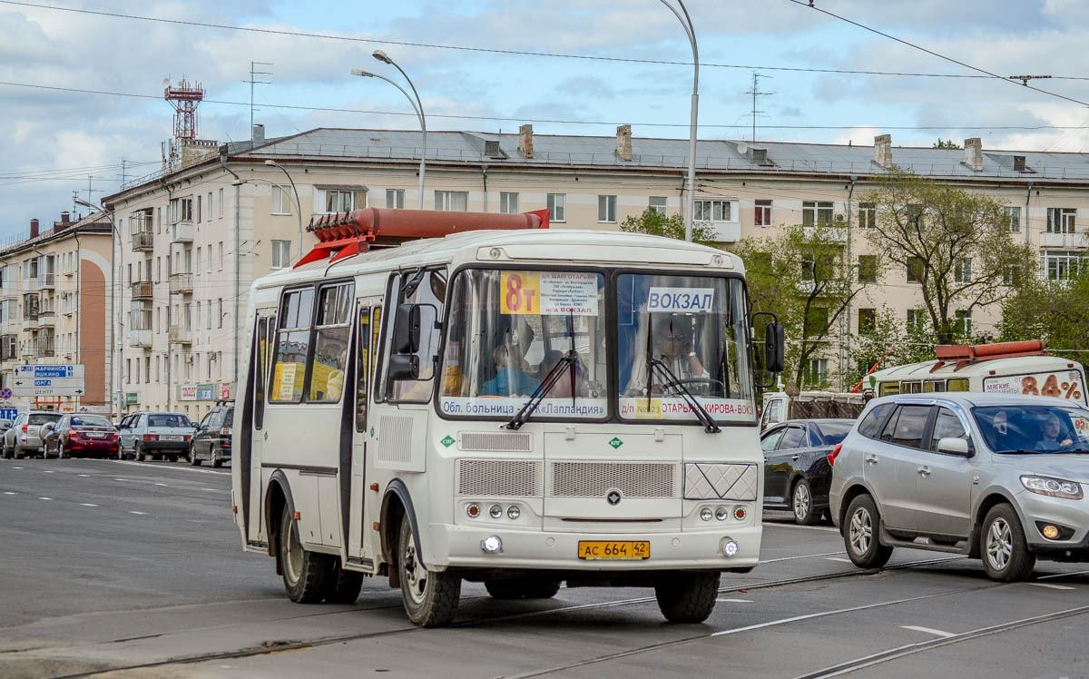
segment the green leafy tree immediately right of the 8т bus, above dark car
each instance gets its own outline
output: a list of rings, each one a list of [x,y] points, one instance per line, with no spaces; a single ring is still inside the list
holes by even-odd
[[[796,385],[815,384],[810,359],[821,357],[852,300],[866,287],[845,254],[846,229],[787,227],[778,237],[745,239],[734,248],[745,263],[755,312],[771,312],[786,334],[786,369]]]

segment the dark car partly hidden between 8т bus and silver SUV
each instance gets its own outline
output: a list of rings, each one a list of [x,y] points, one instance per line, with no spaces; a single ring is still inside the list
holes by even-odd
[[[760,437],[763,448],[763,508],[794,512],[802,525],[828,514],[832,465],[828,456],[854,420],[787,420]]]

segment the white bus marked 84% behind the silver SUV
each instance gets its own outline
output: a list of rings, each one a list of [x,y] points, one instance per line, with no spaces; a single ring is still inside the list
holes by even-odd
[[[865,378],[876,396],[980,391],[1050,396],[1089,404],[1080,363],[1048,355],[1040,340],[934,348],[935,360],[897,365]]]

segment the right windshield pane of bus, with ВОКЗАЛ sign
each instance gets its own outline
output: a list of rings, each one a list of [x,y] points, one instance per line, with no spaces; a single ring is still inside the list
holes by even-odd
[[[616,279],[620,415],[752,422],[748,317],[739,279],[624,274]]]

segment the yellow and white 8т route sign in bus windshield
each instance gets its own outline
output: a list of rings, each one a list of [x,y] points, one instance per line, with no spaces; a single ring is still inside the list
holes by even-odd
[[[578,271],[502,271],[500,311],[503,314],[597,316],[597,274]]]

